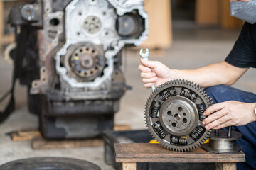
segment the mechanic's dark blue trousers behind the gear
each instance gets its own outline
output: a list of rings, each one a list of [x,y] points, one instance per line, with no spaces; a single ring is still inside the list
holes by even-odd
[[[223,101],[241,101],[255,103],[256,95],[247,91],[241,91],[230,86],[218,85],[206,89],[213,103]],[[244,113],[246,114],[246,113]],[[256,169],[256,122],[242,126],[233,126],[233,130],[242,133],[242,138],[237,141],[245,153],[246,162],[238,163],[237,169]]]

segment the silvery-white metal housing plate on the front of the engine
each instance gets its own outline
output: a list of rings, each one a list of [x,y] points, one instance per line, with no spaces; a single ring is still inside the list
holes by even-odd
[[[133,6],[127,6],[133,4]],[[114,7],[114,8],[113,8]],[[122,11],[122,14],[119,14]],[[137,36],[122,36],[116,29],[117,18],[125,13],[135,13],[139,18]],[[75,19],[74,19],[75,18]],[[148,35],[148,16],[144,11],[142,1],[79,1],[73,0],[65,8],[65,44],[56,52],[55,67],[60,78],[73,88],[101,88],[105,81],[111,79],[114,71],[114,56],[126,44],[141,45]],[[68,47],[79,42],[90,42],[93,45],[102,45],[105,50],[107,64],[101,77],[94,81],[76,81],[68,77],[67,68],[60,62],[61,56],[66,55]]]

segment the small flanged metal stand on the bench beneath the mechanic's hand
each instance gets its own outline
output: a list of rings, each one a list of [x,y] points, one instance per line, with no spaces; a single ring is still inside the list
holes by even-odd
[[[241,147],[236,144],[235,140],[241,137],[242,134],[232,131],[231,126],[228,130],[215,130],[209,137],[209,143],[203,144],[203,149],[213,153],[236,153],[241,150]]]

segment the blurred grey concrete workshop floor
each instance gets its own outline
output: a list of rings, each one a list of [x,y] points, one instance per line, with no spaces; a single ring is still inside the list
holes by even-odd
[[[160,60],[173,69],[193,69],[213,62],[221,62],[233,47],[239,35],[238,30],[218,28],[191,28],[174,30],[173,45],[167,50],[151,50],[151,60]],[[128,124],[132,129],[144,129],[144,105],[151,89],[144,89],[139,77],[138,50],[124,52],[124,74],[132,90],[127,91],[121,100],[119,112],[115,115],[116,124]],[[11,86],[12,67],[0,57],[0,96]],[[250,69],[234,86],[256,93],[255,69]],[[16,111],[0,125],[0,164],[27,157],[73,157],[93,162],[102,169],[112,170],[104,162],[103,147],[82,147],[73,149],[33,150],[31,142],[11,141],[6,132],[37,128],[36,115],[28,113],[26,87],[16,86]],[[0,109],[6,103],[0,104]]]

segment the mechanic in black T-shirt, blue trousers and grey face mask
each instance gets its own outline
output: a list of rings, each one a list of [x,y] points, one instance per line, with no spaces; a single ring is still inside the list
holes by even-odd
[[[206,129],[234,125],[242,133],[237,141],[245,153],[238,169],[256,169],[256,95],[230,87],[250,68],[256,68],[256,0],[231,1],[231,15],[245,21],[238,40],[223,62],[198,69],[169,69],[158,61],[141,59],[139,70],[144,86],[159,86],[173,79],[188,79],[206,88],[213,106],[206,109]]]

